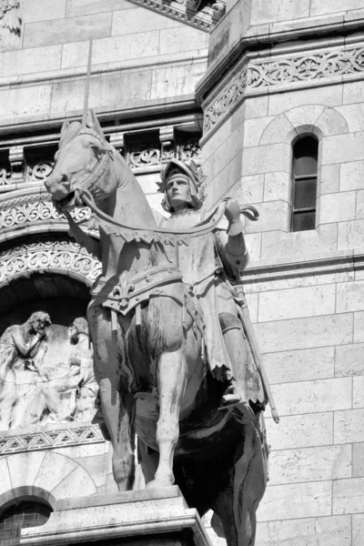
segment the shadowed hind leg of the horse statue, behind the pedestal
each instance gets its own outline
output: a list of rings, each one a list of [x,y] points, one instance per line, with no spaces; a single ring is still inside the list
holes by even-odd
[[[256,511],[266,489],[266,470],[258,430],[249,423],[243,454],[228,471],[227,486],[211,506],[222,522],[227,546],[254,546]]]

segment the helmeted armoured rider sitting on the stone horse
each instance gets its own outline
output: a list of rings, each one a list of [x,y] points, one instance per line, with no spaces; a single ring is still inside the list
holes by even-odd
[[[172,159],[162,175],[162,207],[170,213],[163,227],[187,229],[202,219],[202,199],[197,169]],[[221,409],[234,409],[243,420],[264,410],[267,394],[245,333],[244,293],[233,285],[248,264],[248,250],[240,221],[240,207],[227,200],[224,218],[204,237],[191,238],[178,247],[184,282],[200,301],[205,322],[207,362],[212,375],[227,382]]]

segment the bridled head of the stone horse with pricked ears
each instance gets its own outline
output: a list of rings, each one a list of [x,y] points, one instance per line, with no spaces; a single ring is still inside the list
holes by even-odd
[[[63,210],[81,206],[79,194],[85,189],[96,202],[109,197],[116,190],[115,169],[110,169],[114,152],[93,110],[88,110],[86,126],[66,120],[61,129],[54,171],[45,182],[57,206]],[[107,176],[102,176],[106,173]]]

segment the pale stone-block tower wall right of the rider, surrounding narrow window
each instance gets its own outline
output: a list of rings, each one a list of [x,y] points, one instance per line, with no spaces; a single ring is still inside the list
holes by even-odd
[[[197,86],[207,207],[234,196],[260,214],[246,220],[243,281],[281,420],[267,420],[258,546],[364,543],[364,42],[351,33],[360,7],[238,2],[213,32]],[[234,21],[244,10],[243,28]],[[345,38],[322,35],[339,22]],[[316,228],[291,232],[292,145],[309,135],[319,140]]]

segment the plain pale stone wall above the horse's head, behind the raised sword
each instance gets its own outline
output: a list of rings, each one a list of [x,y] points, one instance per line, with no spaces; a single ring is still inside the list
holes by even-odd
[[[90,38],[89,106],[98,112],[193,100],[207,36],[127,0],[26,0],[18,48],[0,53],[0,124],[78,113]]]

